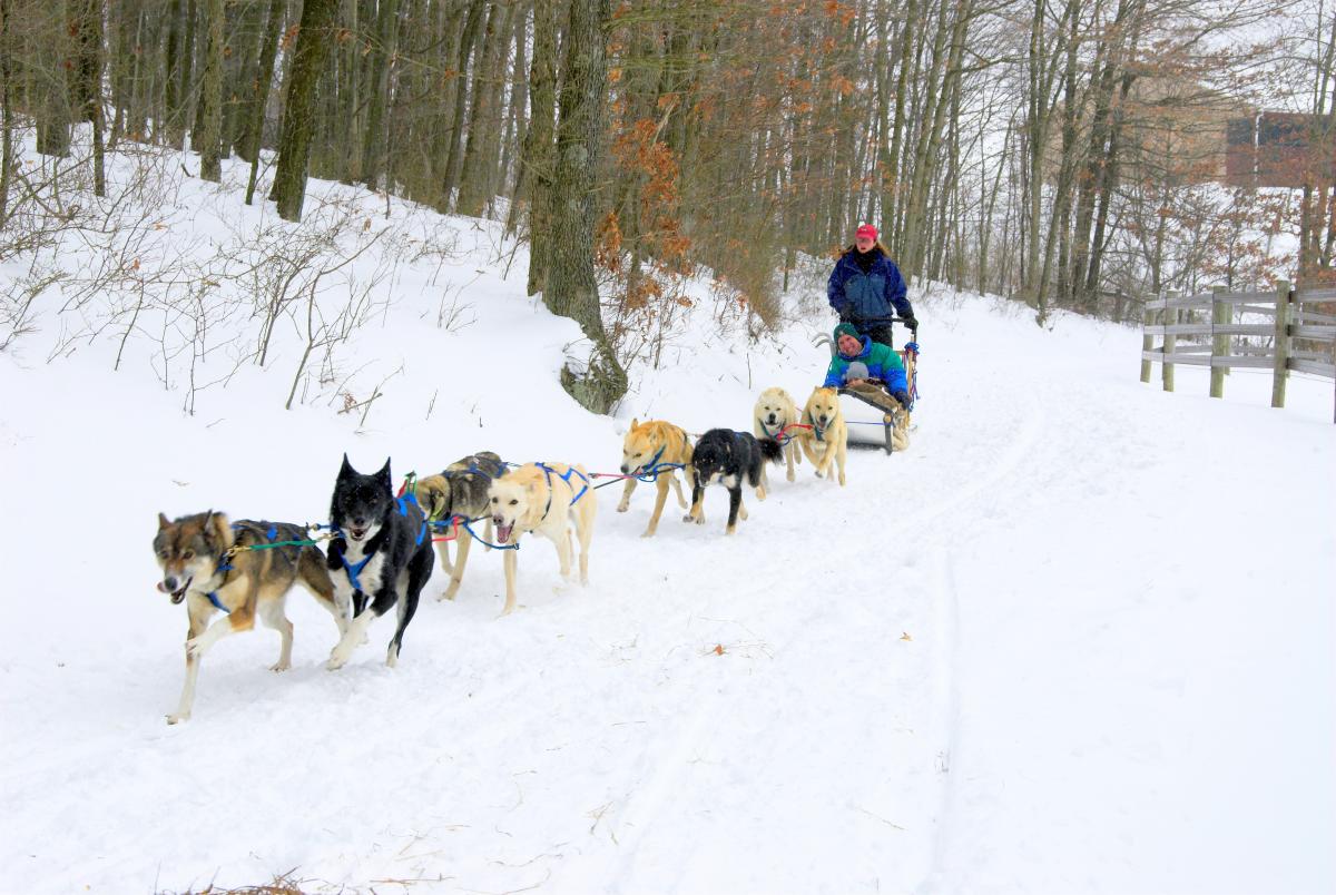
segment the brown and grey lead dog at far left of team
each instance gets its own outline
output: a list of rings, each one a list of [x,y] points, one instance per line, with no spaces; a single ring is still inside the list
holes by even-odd
[[[293,667],[293,622],[285,613],[287,592],[301,584],[329,609],[339,636],[347,631],[347,606],[339,605],[334,582],[325,566],[325,554],[310,545],[283,545],[254,549],[278,541],[305,541],[306,529],[287,522],[228,524],[222,513],[196,513],[168,521],[158,514],[154,553],[163,578],[158,589],[174,604],[186,601],[190,628],[186,640],[186,685],[168,724],[190,717],[195,701],[195,681],[204,653],[223,637],[255,628],[255,616],[283,640],[278,661],[270,671]],[[224,617],[214,624],[215,612]]]

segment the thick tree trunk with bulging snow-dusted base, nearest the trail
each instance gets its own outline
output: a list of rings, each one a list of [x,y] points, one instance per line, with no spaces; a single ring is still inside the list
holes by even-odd
[[[592,342],[588,369],[562,369],[561,385],[584,407],[608,413],[627,391],[627,374],[603,330],[593,273],[595,170],[608,96],[611,0],[572,0],[561,75],[561,123],[553,182],[552,268],[542,301],[574,319]]]

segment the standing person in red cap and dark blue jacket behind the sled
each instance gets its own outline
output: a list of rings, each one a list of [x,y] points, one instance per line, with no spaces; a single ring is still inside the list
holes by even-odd
[[[826,283],[826,297],[842,323],[852,323],[859,335],[887,347],[891,345],[891,319],[898,313],[911,331],[918,330],[914,309],[904,298],[904,278],[890,252],[876,239],[876,227],[859,224],[854,244],[835,262]]]

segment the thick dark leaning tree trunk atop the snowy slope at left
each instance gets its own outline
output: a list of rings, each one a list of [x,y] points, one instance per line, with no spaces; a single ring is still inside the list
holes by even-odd
[[[283,127],[278,143],[274,172],[274,199],[285,220],[302,219],[306,199],[306,164],[311,154],[314,130],[315,84],[330,47],[330,27],[337,0],[305,0],[302,21],[293,48],[287,100],[283,104]]]

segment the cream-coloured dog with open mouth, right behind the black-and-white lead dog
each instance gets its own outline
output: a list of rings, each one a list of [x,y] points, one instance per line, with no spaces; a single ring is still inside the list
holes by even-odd
[[[570,578],[570,526],[580,538],[580,584],[589,584],[589,541],[599,501],[582,466],[525,464],[492,482],[488,492],[497,542],[518,546],[525,532],[541,534],[557,548],[561,577]],[[505,552],[505,609],[514,610],[516,552]]]

